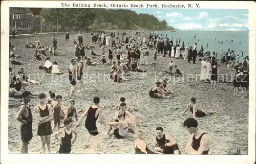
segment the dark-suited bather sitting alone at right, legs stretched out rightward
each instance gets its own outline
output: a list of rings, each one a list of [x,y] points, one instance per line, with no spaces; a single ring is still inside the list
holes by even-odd
[[[206,115],[210,115],[212,113],[215,113],[215,109],[212,110],[203,110],[198,109],[198,106],[196,104],[196,98],[191,98],[191,102],[187,104],[186,109],[184,110],[183,114],[190,109],[191,113],[193,113],[193,118],[196,119],[196,117],[202,118]]]

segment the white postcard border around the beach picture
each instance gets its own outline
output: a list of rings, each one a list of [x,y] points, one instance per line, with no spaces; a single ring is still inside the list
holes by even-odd
[[[84,4],[200,4],[201,9],[248,9],[249,10],[249,58],[250,58],[250,95],[249,95],[249,155],[120,155],[115,154],[8,154],[8,40],[9,7],[61,8],[61,3]],[[161,5],[159,5],[161,6]],[[144,7],[145,8],[145,7]],[[161,7],[159,7],[160,9]],[[1,2],[1,163],[248,163],[255,161],[255,54],[256,18],[253,2],[196,2],[196,1],[2,1]],[[196,9],[196,8],[194,8]],[[170,9],[171,10],[171,9]],[[4,34],[3,34],[4,31]],[[4,79],[4,80],[3,80]],[[232,125],[230,125],[232,126]],[[246,135],[246,134],[241,134]]]

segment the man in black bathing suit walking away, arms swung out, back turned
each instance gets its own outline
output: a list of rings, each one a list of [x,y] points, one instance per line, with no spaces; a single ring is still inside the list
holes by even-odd
[[[94,144],[92,146],[91,152],[94,152],[97,149],[98,141],[99,141],[99,132],[96,126],[96,121],[99,118],[99,122],[103,123],[106,126],[106,123],[103,121],[102,111],[99,107],[100,99],[99,97],[93,98],[94,105],[89,106],[86,111],[82,113],[80,118],[78,119],[75,126],[78,126],[81,120],[87,115],[85,126],[88,130],[90,136],[87,138],[86,142],[84,142],[83,146],[86,147],[88,145],[89,139],[94,136]]]

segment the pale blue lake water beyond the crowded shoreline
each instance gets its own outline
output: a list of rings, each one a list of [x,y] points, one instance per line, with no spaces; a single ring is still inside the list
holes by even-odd
[[[198,44],[198,49],[200,49],[200,45],[202,44],[204,47],[204,52],[215,51],[218,54],[218,58],[221,57],[221,50],[224,52],[227,51],[228,48],[233,50],[237,55],[244,52],[243,57],[240,55],[240,61],[243,60],[245,56],[248,55],[249,52],[249,32],[236,32],[236,31],[154,31],[155,33],[167,36],[171,39],[173,36],[174,43],[176,43],[176,38],[181,38],[182,41],[185,42],[185,47],[188,46],[188,42],[190,46],[194,46],[195,43]],[[197,35],[197,38],[194,36]],[[215,40],[216,38],[216,40]],[[199,41],[198,41],[199,39]],[[227,41],[226,41],[227,40]],[[233,40],[233,42],[231,42]],[[220,43],[218,42],[220,41]],[[223,41],[223,44],[221,42]],[[240,44],[241,41],[241,44]],[[206,44],[208,43],[208,49],[206,49]]]

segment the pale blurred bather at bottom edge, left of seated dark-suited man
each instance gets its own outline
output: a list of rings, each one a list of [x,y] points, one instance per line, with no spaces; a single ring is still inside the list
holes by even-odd
[[[148,149],[143,133],[138,133],[137,141],[134,144],[135,154],[158,154]]]

